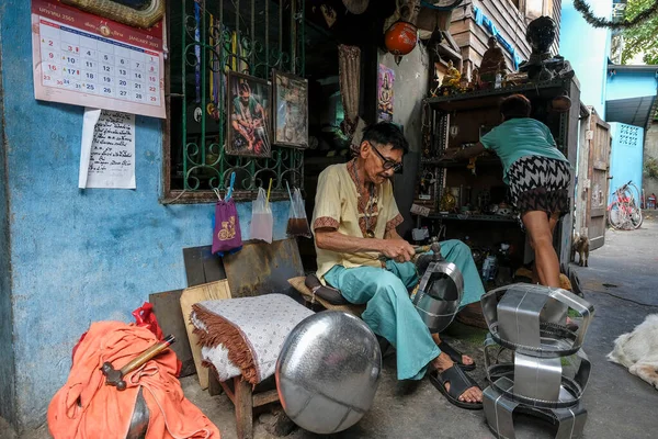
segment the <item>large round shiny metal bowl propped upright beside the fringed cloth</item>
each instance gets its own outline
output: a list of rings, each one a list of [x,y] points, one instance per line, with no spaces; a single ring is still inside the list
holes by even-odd
[[[276,387],[286,415],[320,435],[342,431],[371,408],[382,370],[377,338],[353,315],[326,311],[286,338]]]

